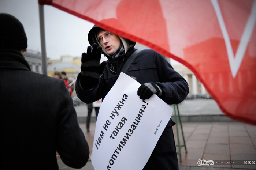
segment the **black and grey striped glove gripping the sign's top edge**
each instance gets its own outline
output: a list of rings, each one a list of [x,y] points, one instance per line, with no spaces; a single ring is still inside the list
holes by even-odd
[[[138,88],[137,94],[138,96],[140,96],[140,99],[145,100],[149,99],[153,94],[156,94],[158,97],[161,97],[163,93],[162,89],[159,86],[157,86],[157,84],[149,82],[142,84]]]

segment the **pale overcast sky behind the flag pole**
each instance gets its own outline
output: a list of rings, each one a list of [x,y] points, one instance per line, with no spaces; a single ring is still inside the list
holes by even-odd
[[[27,35],[27,49],[41,52],[39,7],[37,0],[0,0],[0,12],[18,18]],[[60,59],[61,55],[81,56],[86,52],[88,32],[93,23],[49,5],[44,5],[46,54]]]

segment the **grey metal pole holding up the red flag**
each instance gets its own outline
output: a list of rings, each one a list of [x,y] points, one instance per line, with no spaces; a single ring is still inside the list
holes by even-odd
[[[44,31],[44,5],[39,5],[39,20],[40,20],[40,37],[41,37],[41,51],[42,51],[42,70],[44,75],[47,73],[47,57],[45,48],[45,31]]]

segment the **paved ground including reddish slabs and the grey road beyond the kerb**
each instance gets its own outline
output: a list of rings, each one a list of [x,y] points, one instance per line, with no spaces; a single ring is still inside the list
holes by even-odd
[[[87,132],[85,124],[87,116],[86,105],[77,106],[75,109],[77,110],[79,124],[88,141],[91,154],[96,126],[95,111],[92,114],[90,132]],[[249,162],[256,160],[255,126],[225,119],[226,116],[212,99],[185,100],[179,104],[179,112],[181,116],[188,117],[185,121],[182,120],[187,153],[185,147],[180,147],[181,155],[178,154],[179,169],[256,169],[256,164]],[[200,117],[207,117],[207,119],[202,120]],[[175,120],[174,117],[172,117],[172,120]],[[179,123],[173,127],[175,143],[178,145],[177,126],[180,145],[184,145]],[[179,147],[176,150],[179,153]],[[199,159],[206,161],[213,160],[214,165],[198,166],[197,162]],[[244,161],[247,161],[246,165]],[[220,164],[221,162],[222,164]],[[228,164],[227,162],[234,164]],[[58,159],[58,163],[60,169],[72,169],[64,165],[61,159]],[[82,169],[93,170],[90,159]]]

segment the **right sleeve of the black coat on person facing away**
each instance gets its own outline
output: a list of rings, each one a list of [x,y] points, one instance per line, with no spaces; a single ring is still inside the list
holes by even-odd
[[[89,159],[89,146],[79,127],[73,101],[64,82],[59,86],[62,98],[57,122],[57,152],[67,166],[82,168]]]

